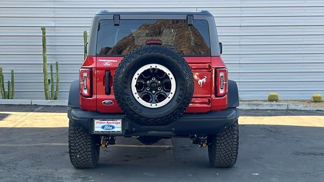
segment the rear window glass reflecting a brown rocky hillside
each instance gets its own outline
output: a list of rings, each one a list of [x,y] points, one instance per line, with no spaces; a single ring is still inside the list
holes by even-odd
[[[126,55],[145,45],[146,40],[161,40],[181,55],[210,55],[208,22],[194,20],[101,20],[97,36],[97,55]]]

